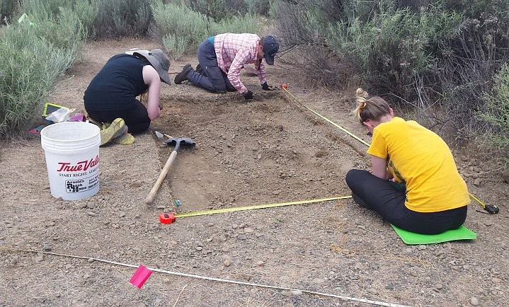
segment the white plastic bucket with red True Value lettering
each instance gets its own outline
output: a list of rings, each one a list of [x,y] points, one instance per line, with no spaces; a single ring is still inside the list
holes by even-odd
[[[100,131],[88,122],[59,122],[40,131],[53,197],[84,199],[99,191]]]

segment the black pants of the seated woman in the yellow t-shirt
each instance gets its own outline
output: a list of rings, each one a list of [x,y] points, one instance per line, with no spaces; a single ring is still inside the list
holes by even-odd
[[[355,202],[372,209],[389,223],[414,233],[434,234],[462,226],[467,206],[441,212],[415,212],[405,206],[401,185],[380,179],[367,170],[349,170],[346,183]],[[447,183],[445,183],[447,184]]]

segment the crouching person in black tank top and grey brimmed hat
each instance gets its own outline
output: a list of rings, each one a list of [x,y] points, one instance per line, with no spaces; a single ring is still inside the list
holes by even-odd
[[[86,88],[85,110],[96,122],[118,123],[117,119],[121,118],[125,124],[116,127],[118,131],[101,133],[101,145],[127,132],[149,129],[151,120],[160,115],[161,81],[171,83],[169,68],[170,60],[160,49],[116,54],[108,59]],[[137,99],[145,92],[148,92],[147,105]]]

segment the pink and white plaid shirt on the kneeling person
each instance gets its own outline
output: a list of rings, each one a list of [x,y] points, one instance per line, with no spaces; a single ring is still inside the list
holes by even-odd
[[[228,75],[231,85],[240,93],[248,90],[239,77],[245,64],[255,64],[260,82],[267,81],[265,66],[257,58],[258,42],[260,42],[258,35],[248,33],[224,33],[214,37],[217,65]]]

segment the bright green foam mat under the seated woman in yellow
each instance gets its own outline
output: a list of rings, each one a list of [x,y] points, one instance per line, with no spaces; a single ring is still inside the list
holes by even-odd
[[[435,235],[423,235],[421,233],[412,233],[410,231],[398,228],[392,224],[391,226],[394,229],[394,231],[396,231],[401,240],[403,240],[403,242],[408,245],[433,244],[456,240],[474,240],[475,238],[477,238],[477,234],[474,233],[474,231],[471,231],[469,228],[465,227],[464,225],[459,226],[459,228],[457,229],[448,230],[443,233],[437,233]]]

